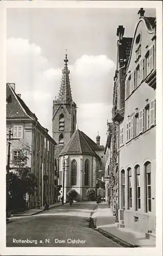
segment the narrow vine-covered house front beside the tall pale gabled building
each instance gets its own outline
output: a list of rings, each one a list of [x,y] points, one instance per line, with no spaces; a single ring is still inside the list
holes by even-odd
[[[110,193],[111,208],[113,215],[118,221],[119,210],[119,122],[123,119],[124,95],[125,95],[125,74],[129,59],[132,38],[123,37],[124,28],[119,26],[117,29],[117,69],[114,76],[113,88],[113,109],[112,109],[112,133],[110,149]]]

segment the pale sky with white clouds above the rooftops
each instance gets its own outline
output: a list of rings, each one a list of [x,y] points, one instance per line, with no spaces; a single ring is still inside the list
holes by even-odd
[[[155,9],[145,16],[155,16]],[[52,136],[52,104],[58,96],[67,49],[77,126],[100,144],[112,121],[117,28],[132,37],[139,8],[8,8],[7,82]]]

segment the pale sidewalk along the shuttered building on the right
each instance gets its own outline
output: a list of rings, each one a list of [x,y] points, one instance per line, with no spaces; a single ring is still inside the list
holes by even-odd
[[[107,203],[98,205],[92,218],[96,223],[96,230],[104,236],[113,239],[124,247],[155,247],[155,241],[147,239],[145,233],[133,231],[125,227],[117,227],[116,218]],[[96,222],[95,222],[96,219]]]

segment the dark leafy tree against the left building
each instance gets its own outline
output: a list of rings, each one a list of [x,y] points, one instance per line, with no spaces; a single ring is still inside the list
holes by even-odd
[[[37,187],[37,177],[31,173],[31,168],[27,165],[31,148],[26,143],[21,143],[20,147],[14,148],[16,154],[13,157],[13,172],[10,172],[10,202],[11,199],[19,201],[25,199],[26,193],[34,195]]]

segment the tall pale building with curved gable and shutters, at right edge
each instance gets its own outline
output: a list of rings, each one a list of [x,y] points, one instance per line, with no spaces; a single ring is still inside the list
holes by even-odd
[[[155,232],[156,19],[138,12],[125,79],[119,125],[119,220]]]

